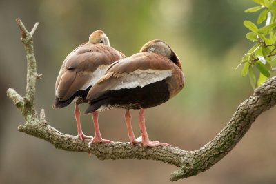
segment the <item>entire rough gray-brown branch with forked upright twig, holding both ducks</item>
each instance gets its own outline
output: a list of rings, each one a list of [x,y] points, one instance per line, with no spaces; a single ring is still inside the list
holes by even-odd
[[[224,129],[199,150],[185,151],[177,147],[166,146],[145,148],[141,145],[121,142],[93,144],[88,147],[88,143],[80,141],[77,136],[63,134],[48,125],[44,110],[41,110],[40,118],[37,116],[34,94],[35,83],[40,75],[37,74],[32,35],[38,23],[34,25],[31,32],[26,30],[19,19],[17,19],[17,24],[22,32],[21,41],[25,46],[28,62],[26,96],[20,96],[12,88],[7,90],[7,95],[21,111],[26,121],[23,125],[19,125],[18,129],[20,132],[44,139],[62,150],[88,152],[95,154],[101,160],[152,159],[161,161],[180,167],[170,176],[170,181],[177,181],[180,178],[188,178],[204,172],[221,160],[242,139],[257,116],[276,104],[276,77],[272,77],[256,88],[254,94],[239,105]]]

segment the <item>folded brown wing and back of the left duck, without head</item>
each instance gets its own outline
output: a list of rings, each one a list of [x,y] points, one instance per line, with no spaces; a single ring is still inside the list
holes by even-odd
[[[86,98],[86,90],[103,76],[108,65],[123,57],[120,52],[106,45],[80,45],[63,61],[56,81],[57,99],[54,106],[61,108],[59,103],[66,101],[69,104],[75,96],[82,93]]]

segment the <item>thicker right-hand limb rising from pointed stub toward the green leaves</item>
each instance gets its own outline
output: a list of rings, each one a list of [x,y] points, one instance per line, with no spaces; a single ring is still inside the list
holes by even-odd
[[[173,172],[171,181],[188,178],[208,170],[221,160],[242,139],[259,114],[276,104],[276,77],[268,79],[253,96],[239,105],[232,119],[215,138],[184,159],[180,170]]]

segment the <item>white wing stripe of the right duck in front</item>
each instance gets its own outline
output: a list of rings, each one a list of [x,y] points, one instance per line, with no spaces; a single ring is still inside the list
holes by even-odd
[[[118,80],[121,80],[121,83],[109,90],[119,90],[123,88],[131,89],[138,86],[143,88],[145,85],[162,81],[170,76],[172,76],[172,70],[135,70],[119,78]]]

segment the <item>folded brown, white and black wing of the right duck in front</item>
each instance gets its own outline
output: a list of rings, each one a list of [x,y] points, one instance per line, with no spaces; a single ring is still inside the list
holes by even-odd
[[[86,113],[101,106],[148,108],[164,103],[170,98],[168,82],[176,70],[179,68],[170,59],[155,53],[142,52],[121,59],[110,65],[106,75],[89,90]]]

